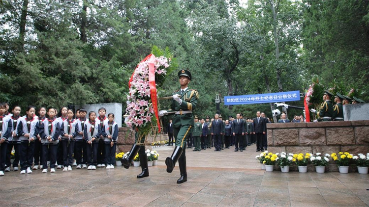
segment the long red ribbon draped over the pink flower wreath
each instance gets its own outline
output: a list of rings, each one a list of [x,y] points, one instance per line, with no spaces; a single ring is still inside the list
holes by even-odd
[[[159,115],[158,115],[158,108],[157,108],[157,94],[156,94],[156,83],[155,83],[155,55],[149,54],[146,56],[140,63],[145,62],[146,60],[149,60],[149,86],[150,86],[150,95],[151,95],[151,102],[153,103],[154,108],[154,115],[156,117],[156,123],[158,127],[158,132],[160,132],[160,123],[159,123]],[[135,68],[135,71],[137,69],[138,65]],[[131,82],[133,79],[134,72],[132,73],[131,78],[128,81],[128,88],[131,87]]]

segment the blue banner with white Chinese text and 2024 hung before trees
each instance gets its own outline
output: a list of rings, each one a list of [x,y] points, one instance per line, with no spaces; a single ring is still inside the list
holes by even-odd
[[[292,101],[300,101],[300,91],[224,97],[224,105],[276,103],[276,102],[292,102]]]

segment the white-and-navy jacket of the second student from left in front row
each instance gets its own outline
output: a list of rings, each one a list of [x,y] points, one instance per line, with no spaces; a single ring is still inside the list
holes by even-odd
[[[17,131],[18,131],[18,135],[19,135],[19,139],[24,142],[24,141],[29,141],[30,138],[37,138],[37,123],[38,123],[38,119],[32,117],[31,120],[28,120],[28,118],[19,118],[18,119],[18,124],[17,124]],[[25,134],[30,134],[30,137],[25,137]],[[33,140],[34,141],[34,140]]]

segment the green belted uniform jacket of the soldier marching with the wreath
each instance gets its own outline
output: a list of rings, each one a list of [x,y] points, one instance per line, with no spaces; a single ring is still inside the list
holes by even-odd
[[[180,98],[182,100],[182,103],[178,103],[175,100],[172,100],[171,110],[169,111],[192,111],[196,108],[197,99],[199,98],[199,94],[196,90],[193,89],[186,89],[182,96],[180,91],[174,92],[172,95],[178,94],[180,95]],[[168,111],[168,112],[169,112]],[[173,117],[173,127],[174,128],[180,128],[184,125],[190,125],[193,126],[194,120],[193,120],[193,114],[192,113],[186,113],[186,114],[174,114]]]

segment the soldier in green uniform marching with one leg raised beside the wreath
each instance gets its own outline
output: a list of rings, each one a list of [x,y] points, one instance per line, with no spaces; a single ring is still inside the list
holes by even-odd
[[[178,179],[177,183],[183,183],[187,181],[185,151],[186,139],[189,134],[192,133],[194,126],[192,110],[196,108],[199,94],[196,90],[188,88],[188,83],[192,79],[191,73],[188,70],[179,71],[178,77],[181,89],[173,93],[171,110],[159,111],[159,116],[175,111],[175,115],[173,117],[173,132],[174,138],[176,139],[176,145],[173,154],[165,159],[165,164],[167,166],[167,172],[171,173],[178,161],[181,177]]]

